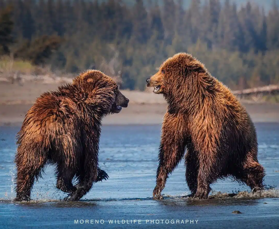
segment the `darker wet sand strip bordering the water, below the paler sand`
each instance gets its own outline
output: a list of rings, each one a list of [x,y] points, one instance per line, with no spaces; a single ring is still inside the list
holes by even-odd
[[[0,105],[0,126],[21,126],[32,104]],[[278,104],[244,104],[254,122],[279,122]],[[104,118],[104,125],[161,124],[166,104],[129,104],[119,114]]]

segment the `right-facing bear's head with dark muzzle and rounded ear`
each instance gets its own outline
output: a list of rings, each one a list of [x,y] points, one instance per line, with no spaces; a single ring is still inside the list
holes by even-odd
[[[119,91],[116,82],[101,71],[84,71],[74,78],[73,85],[83,89],[88,94],[88,104],[98,106],[104,115],[119,113],[122,107],[128,107],[129,99]]]

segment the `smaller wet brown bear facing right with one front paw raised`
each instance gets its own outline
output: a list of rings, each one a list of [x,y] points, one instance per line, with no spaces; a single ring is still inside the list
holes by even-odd
[[[116,82],[88,70],[72,84],[43,93],[25,115],[17,135],[15,201],[29,201],[34,180],[47,164],[56,167],[56,187],[78,201],[108,175],[98,168],[102,118],[128,106]],[[73,178],[77,184],[72,184]]]

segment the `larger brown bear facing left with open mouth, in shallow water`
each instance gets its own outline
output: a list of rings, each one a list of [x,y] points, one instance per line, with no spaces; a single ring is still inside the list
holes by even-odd
[[[154,199],[184,156],[190,196],[206,199],[210,184],[232,177],[252,190],[263,189],[264,168],[249,114],[232,92],[187,53],[167,59],[146,80],[163,94],[167,112],[162,123]]]

